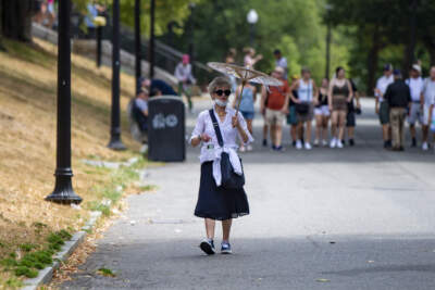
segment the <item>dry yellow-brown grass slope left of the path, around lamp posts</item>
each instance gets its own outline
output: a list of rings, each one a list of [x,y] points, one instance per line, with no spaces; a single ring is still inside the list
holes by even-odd
[[[53,189],[55,167],[55,47],[35,39],[33,47],[7,42],[0,52],[0,260],[24,242],[40,242],[34,223],[49,230],[78,229],[87,218],[86,209],[44,201]],[[113,152],[109,141],[111,70],[73,55],[72,148],[73,186],[92,201],[91,188],[108,176],[92,174],[80,160],[99,157],[126,160],[134,153]],[[124,109],[134,93],[134,78],[122,74],[123,141],[138,150],[129,134]],[[1,280],[8,274],[0,274]]]

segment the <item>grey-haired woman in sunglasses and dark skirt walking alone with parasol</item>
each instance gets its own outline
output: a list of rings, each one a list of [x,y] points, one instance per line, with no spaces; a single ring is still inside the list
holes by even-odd
[[[190,144],[201,147],[201,180],[195,215],[206,222],[207,239],[200,249],[208,255],[214,254],[215,220],[222,220],[221,253],[232,253],[229,231],[233,218],[249,214],[249,204],[243,187],[229,189],[222,185],[221,161],[228,154],[235,174],[243,174],[243,166],[237,156],[237,136],[248,144],[253,141],[243,115],[228,108],[231,81],[216,77],[209,85],[213,108],[199,114],[190,137]],[[214,124],[214,126],[213,126]],[[226,156],[226,155],[225,155]]]

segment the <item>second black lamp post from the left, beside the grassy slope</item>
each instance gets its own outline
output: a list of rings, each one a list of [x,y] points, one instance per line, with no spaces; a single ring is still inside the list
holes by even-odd
[[[112,39],[112,117],[110,142],[108,147],[113,150],[125,150],[121,141],[121,113],[120,113],[120,0],[113,0],[113,39]]]

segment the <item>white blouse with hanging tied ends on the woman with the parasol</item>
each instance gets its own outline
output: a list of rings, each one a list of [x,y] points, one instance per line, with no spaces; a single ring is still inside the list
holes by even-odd
[[[201,134],[207,134],[211,137],[209,142],[202,142],[201,147],[201,154],[199,155],[199,160],[202,163],[212,161],[213,162],[213,177],[216,181],[217,186],[221,186],[221,154],[222,152],[226,152],[229,155],[229,161],[233,165],[234,172],[236,174],[241,175],[241,164],[240,160],[237,155],[237,136],[239,135],[237,128],[233,128],[232,119],[233,116],[236,114],[236,110],[226,108],[226,115],[225,119],[222,122],[221,118],[217,116],[216,112],[213,110],[214,115],[216,116],[219,127],[221,129],[222,139],[224,141],[224,147],[221,148],[217,142],[217,137],[214,131],[213,122],[210,117],[209,110],[202,111],[197,119],[197,124],[195,126],[194,131],[191,133],[191,137],[189,142],[191,143],[191,139],[198,137]],[[248,136],[248,141],[246,143],[250,143],[253,141],[252,136],[250,135],[248,127],[246,125],[246,121],[243,117],[241,113],[239,112],[238,122],[241,128],[245,130],[246,135]],[[241,137],[240,137],[241,138]]]

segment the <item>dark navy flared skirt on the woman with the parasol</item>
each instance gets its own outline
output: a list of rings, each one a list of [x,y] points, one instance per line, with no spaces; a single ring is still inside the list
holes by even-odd
[[[201,181],[195,215],[225,220],[249,214],[249,203],[245,190],[216,187],[213,178],[213,163],[201,165]]]

